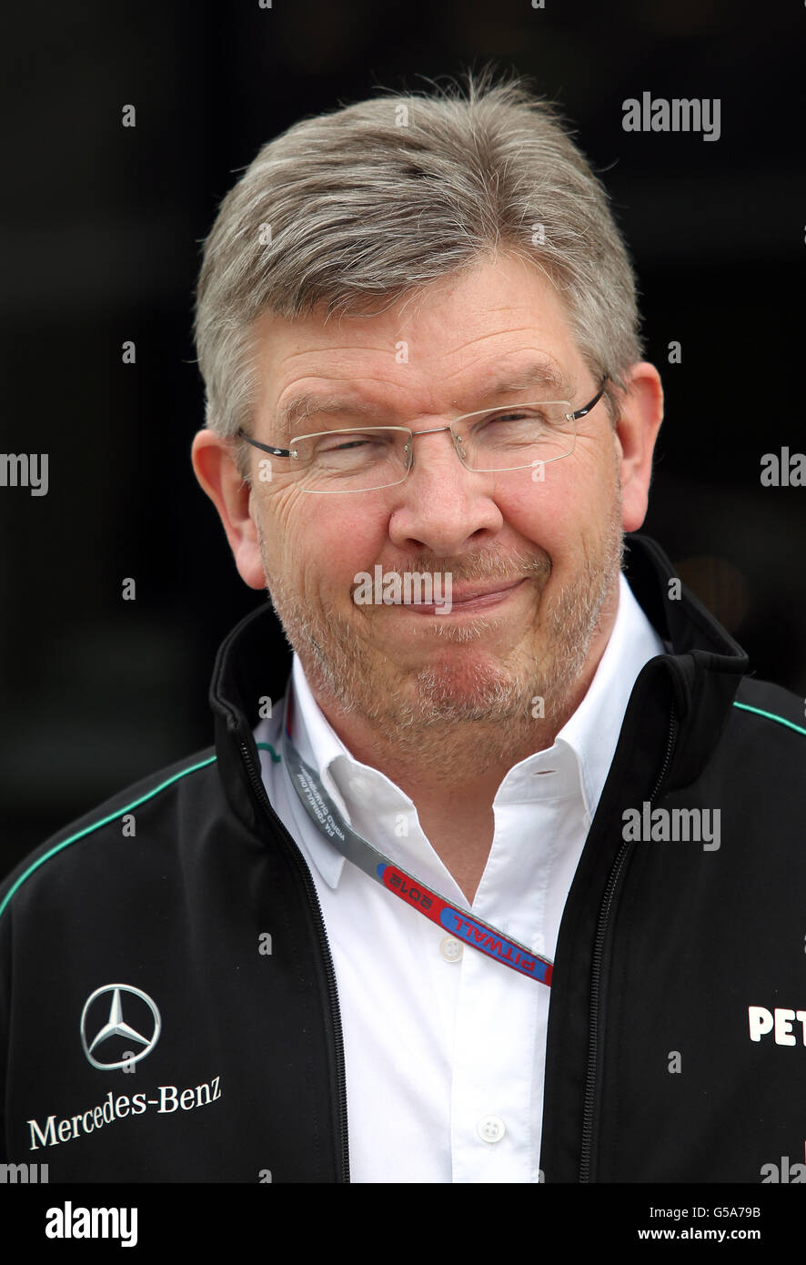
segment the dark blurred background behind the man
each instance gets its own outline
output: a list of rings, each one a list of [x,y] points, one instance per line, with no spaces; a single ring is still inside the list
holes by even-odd
[[[200,243],[264,140],[380,85],[493,61],[562,102],[612,192],[667,392],[644,530],[757,673],[806,693],[806,488],[759,482],[763,453],[806,450],[805,23],[783,0],[46,0],[6,15],[0,452],[49,453],[49,491],[0,488],[0,873],[213,740],[215,649],[264,597],[189,460]],[[625,133],[621,104],[644,90],[720,97],[720,139]]]

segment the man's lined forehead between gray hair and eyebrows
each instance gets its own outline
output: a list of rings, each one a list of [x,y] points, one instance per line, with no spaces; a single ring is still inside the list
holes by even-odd
[[[467,402],[491,374],[516,381],[542,369],[544,395],[571,391],[583,372],[557,290],[512,256],[431,282],[377,315],[326,320],[318,311],[288,321],[264,314],[254,331],[258,411],[275,417],[287,416],[301,395],[337,390],[440,412]]]

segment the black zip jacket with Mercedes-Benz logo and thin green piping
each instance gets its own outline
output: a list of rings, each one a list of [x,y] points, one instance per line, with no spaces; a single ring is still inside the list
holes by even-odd
[[[802,1159],[806,1120],[803,705],[747,677],[657,545],[629,545],[669,653],[638,677],[562,918],[542,1169],[760,1182]],[[215,748],[0,888],[4,1159],[51,1182],[349,1180],[328,940],[252,737],[290,672],[272,622],[266,605],[221,645]],[[719,810],[719,848],[625,839],[631,808]],[[96,1041],[108,1022],[128,1026]]]

